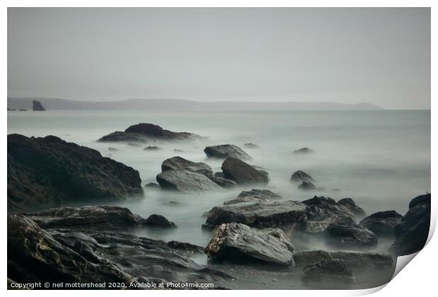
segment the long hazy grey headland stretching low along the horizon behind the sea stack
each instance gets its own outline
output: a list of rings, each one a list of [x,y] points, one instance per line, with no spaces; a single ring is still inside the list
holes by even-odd
[[[333,102],[203,102],[179,99],[129,99],[122,101],[80,101],[58,98],[38,98],[49,110],[381,110],[369,103]],[[30,106],[31,98],[8,98],[8,108],[20,109]]]

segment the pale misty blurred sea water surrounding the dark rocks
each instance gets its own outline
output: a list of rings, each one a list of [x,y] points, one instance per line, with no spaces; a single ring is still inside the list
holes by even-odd
[[[159,124],[175,132],[207,136],[206,141],[141,144],[100,143],[96,140],[132,124]],[[206,158],[203,148],[235,144],[252,157],[249,163],[265,168],[266,189],[283,199],[304,200],[316,195],[351,197],[367,214],[396,210],[405,214],[408,202],[430,191],[430,111],[300,111],[300,112],[162,112],[162,111],[47,111],[8,112],[8,134],[61,137],[95,148],[102,156],[129,165],[140,173],[142,185],[156,182],[161,163],[172,156],[204,162],[220,171],[221,161]],[[245,143],[260,148],[244,148]],[[148,145],[159,151],[143,151]],[[307,146],[315,153],[293,154]],[[109,151],[108,148],[117,148]],[[174,149],[181,150],[174,152]],[[302,192],[290,182],[296,170],[312,175],[325,190]],[[161,214],[178,228],[136,228],[130,232],[149,238],[180,240],[206,246],[211,232],[203,231],[203,213],[237,197],[239,187],[224,192],[180,194],[145,189],[141,200],[119,203],[135,214]],[[341,191],[333,191],[340,189]],[[312,243],[313,244],[313,243]],[[381,243],[378,250],[386,250]],[[326,247],[309,247],[326,248]],[[197,262],[205,263],[200,255]],[[248,280],[250,281],[250,280]]]

